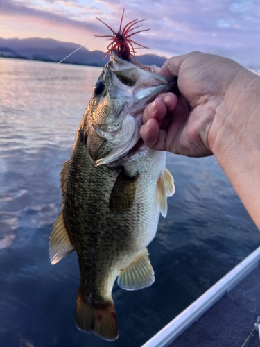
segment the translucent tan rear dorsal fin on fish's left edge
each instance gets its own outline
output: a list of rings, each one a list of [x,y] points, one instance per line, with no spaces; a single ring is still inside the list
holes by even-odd
[[[49,242],[51,264],[57,264],[62,258],[74,251],[74,249],[75,247],[71,244],[71,239],[64,223],[63,211],[61,211],[51,231]]]

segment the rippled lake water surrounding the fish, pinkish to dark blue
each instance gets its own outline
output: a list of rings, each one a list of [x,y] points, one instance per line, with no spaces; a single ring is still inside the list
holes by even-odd
[[[176,193],[148,246],[155,283],[114,285],[116,341],[76,328],[76,253],[52,266],[48,244],[61,164],[100,72],[0,59],[0,346],[139,347],[260,244],[214,158],[168,154]]]

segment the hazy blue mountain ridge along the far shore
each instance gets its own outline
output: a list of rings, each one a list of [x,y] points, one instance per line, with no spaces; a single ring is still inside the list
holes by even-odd
[[[60,42],[53,39],[42,39],[38,37],[28,39],[4,39],[0,37],[0,57],[20,58],[28,60],[41,60],[60,62],[73,51],[80,48],[79,44],[72,42]],[[103,67],[108,61],[104,60],[105,53],[101,51],[89,51],[85,47],[73,53],[65,60],[69,64],[92,65]],[[137,59],[146,65],[155,64],[161,67],[166,58],[146,54],[138,56]]]

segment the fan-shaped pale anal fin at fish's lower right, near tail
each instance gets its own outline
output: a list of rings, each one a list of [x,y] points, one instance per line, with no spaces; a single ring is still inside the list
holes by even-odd
[[[155,282],[154,275],[155,273],[148,257],[148,249],[144,248],[144,251],[132,264],[121,270],[117,283],[126,290],[142,289]]]

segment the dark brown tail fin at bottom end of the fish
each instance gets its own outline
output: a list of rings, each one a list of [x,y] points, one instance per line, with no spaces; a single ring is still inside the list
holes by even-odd
[[[76,303],[76,325],[80,330],[93,331],[109,341],[119,336],[114,303],[110,301],[100,306],[89,305],[80,293],[80,289]]]

